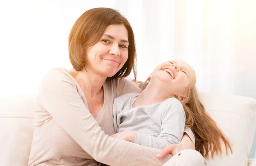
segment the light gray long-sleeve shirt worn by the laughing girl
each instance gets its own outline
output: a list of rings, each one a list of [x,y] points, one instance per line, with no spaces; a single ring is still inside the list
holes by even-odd
[[[133,108],[138,95],[127,93],[114,99],[115,133],[134,130],[134,143],[157,149],[180,143],[186,120],[180,101],[172,97],[160,103]]]

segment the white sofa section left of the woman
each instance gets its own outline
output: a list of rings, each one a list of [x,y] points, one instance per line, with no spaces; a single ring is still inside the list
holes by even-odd
[[[35,95],[0,99],[0,166],[27,166]]]

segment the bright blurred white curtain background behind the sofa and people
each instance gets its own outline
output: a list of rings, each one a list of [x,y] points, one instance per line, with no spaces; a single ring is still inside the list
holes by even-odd
[[[0,96],[36,94],[51,68],[72,68],[70,29],[95,7],[117,9],[131,23],[138,80],[183,59],[198,91],[256,98],[256,0],[1,0]],[[255,149],[256,137],[250,157]]]

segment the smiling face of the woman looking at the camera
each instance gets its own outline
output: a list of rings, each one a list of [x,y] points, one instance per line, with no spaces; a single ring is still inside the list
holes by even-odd
[[[123,24],[107,26],[100,40],[86,50],[86,71],[112,77],[128,59],[128,31]]]

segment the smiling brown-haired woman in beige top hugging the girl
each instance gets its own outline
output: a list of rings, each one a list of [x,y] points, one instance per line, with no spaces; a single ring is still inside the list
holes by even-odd
[[[163,165],[171,155],[157,159],[158,149],[108,136],[114,134],[113,98],[141,92],[122,79],[132,69],[136,78],[129,22],[113,9],[86,11],[71,29],[69,55],[73,69],[52,69],[41,81],[29,166]],[[192,131],[185,132],[179,150],[194,148]]]

